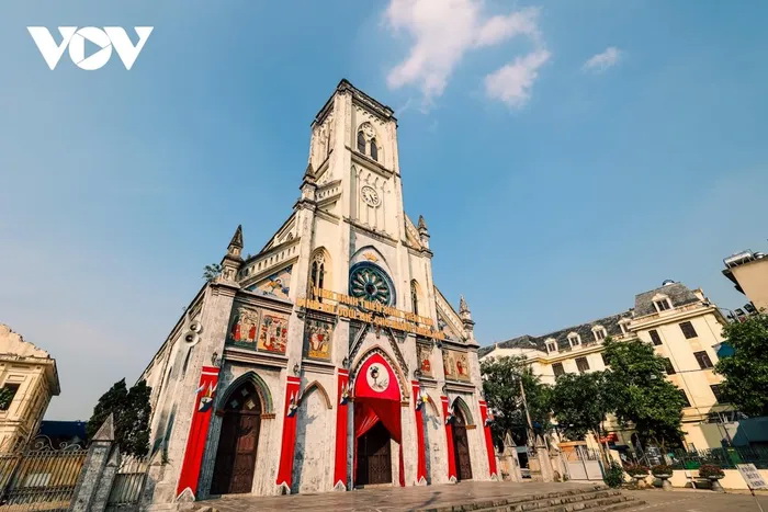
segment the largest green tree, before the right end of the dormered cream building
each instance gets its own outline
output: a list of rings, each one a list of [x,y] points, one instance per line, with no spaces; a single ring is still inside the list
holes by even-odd
[[[680,389],[665,378],[664,359],[640,340],[608,338],[603,350],[610,367],[606,391],[613,397],[619,421],[632,422],[643,445],[679,446],[684,399]]]

